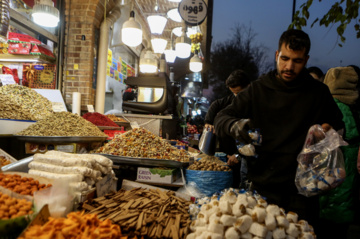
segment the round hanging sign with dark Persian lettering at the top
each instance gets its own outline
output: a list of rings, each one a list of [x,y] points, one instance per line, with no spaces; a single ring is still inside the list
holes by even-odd
[[[183,0],[178,7],[181,18],[187,25],[197,26],[207,16],[207,5],[204,0]]]

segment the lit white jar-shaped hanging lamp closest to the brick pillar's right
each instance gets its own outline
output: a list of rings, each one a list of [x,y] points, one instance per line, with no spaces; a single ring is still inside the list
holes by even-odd
[[[130,12],[130,18],[124,22],[121,29],[121,40],[125,45],[136,47],[142,42],[141,25],[135,21],[135,12]]]

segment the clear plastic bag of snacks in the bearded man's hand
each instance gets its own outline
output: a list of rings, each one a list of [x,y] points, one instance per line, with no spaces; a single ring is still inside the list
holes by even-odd
[[[334,129],[326,133],[320,125],[309,129],[297,158],[295,184],[300,194],[307,197],[317,195],[345,180],[345,163],[339,147],[346,145]]]

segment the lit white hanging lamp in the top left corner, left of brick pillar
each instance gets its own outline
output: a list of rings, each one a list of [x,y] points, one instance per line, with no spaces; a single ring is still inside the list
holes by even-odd
[[[59,23],[59,10],[51,0],[38,0],[35,1],[31,17],[40,26],[56,27]]]

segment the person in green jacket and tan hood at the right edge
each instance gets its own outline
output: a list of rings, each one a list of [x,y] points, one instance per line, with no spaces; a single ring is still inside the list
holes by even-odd
[[[336,104],[343,113],[344,140],[341,147],[346,178],[337,188],[320,196],[321,226],[337,228],[322,230],[327,238],[346,238],[349,225],[354,222],[358,201],[357,155],[360,146],[360,69],[356,66],[335,67],[328,70],[324,83],[329,87]],[[359,206],[359,205],[357,205]],[[356,210],[357,209],[357,210]]]

